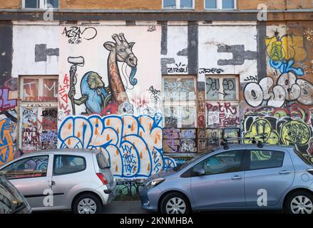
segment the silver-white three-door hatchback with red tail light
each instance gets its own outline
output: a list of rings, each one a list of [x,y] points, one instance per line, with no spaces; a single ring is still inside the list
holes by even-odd
[[[101,212],[114,198],[116,182],[100,150],[31,152],[0,167],[33,211],[73,209]]]

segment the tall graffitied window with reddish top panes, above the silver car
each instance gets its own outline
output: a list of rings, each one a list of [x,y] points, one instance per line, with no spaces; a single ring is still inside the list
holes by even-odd
[[[58,144],[58,77],[23,76],[20,90],[23,152],[56,148]]]

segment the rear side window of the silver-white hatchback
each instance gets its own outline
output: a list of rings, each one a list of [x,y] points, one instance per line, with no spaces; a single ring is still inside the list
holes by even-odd
[[[66,175],[86,170],[84,157],[73,155],[55,155],[53,162],[53,175]]]

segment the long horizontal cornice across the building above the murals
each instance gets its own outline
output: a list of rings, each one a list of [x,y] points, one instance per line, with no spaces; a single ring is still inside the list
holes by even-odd
[[[42,21],[46,10],[0,9],[0,21]],[[55,21],[257,21],[259,11],[53,10]],[[268,11],[268,21],[312,20],[313,10]]]

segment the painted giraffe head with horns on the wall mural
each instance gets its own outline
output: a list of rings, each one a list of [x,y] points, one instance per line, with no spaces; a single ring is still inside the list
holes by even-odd
[[[108,41],[104,43],[103,46],[108,51],[115,54],[116,61],[127,63],[131,68],[136,67],[137,57],[133,53],[133,46],[135,43],[128,43],[123,33],[113,34],[112,38],[116,43]]]

